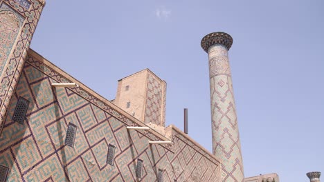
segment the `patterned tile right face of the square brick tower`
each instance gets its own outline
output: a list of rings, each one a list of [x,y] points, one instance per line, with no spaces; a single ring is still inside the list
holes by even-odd
[[[145,107],[145,123],[164,126],[165,90],[163,83],[156,79],[152,73],[147,74],[147,96]],[[164,104],[163,104],[164,103]],[[162,115],[163,114],[163,115]]]

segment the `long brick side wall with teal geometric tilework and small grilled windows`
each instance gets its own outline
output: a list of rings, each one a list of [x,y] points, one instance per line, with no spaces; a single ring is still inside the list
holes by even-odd
[[[161,136],[127,130],[134,121],[93,92],[52,88],[69,80],[51,67],[29,54],[13,93],[0,135],[8,181],[157,181],[159,169],[163,181],[221,181],[219,162],[178,130],[172,130],[173,145],[150,145]],[[19,97],[30,101],[24,125],[12,121]],[[78,128],[73,148],[64,145],[69,123]],[[114,165],[107,163],[109,145],[115,146]]]

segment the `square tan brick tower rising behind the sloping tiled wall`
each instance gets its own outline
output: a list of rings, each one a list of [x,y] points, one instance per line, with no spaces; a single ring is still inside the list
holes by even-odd
[[[114,103],[146,124],[165,127],[166,83],[145,69],[118,80]]]

